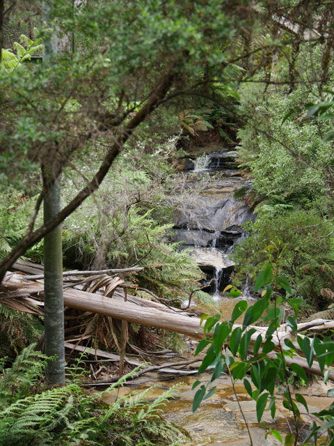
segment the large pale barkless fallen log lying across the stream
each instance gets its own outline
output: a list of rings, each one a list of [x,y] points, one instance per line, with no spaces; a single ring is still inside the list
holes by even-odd
[[[33,297],[35,299],[43,299],[43,288],[44,285],[42,282],[28,282],[22,275],[9,273],[0,286],[0,302],[16,298],[24,299]],[[154,307],[148,307],[148,305],[152,305],[152,302],[131,295],[129,295],[129,300],[124,302],[123,297],[120,291],[113,293],[113,298],[108,298],[103,295],[88,293],[87,291],[65,289],[64,305],[84,312],[111,316],[128,322],[185,334],[195,339],[202,339],[203,332],[202,328],[200,328],[200,318],[175,313],[171,309],[166,309],[159,302],[154,302]],[[130,300],[130,298],[133,299]],[[241,327],[240,324],[234,324],[234,328],[238,326]],[[267,327],[251,325],[248,328],[254,328],[256,330],[251,337],[252,342],[255,342],[258,334],[262,334],[262,338],[264,339]],[[334,328],[334,321],[316,320],[298,324],[297,328],[299,331]],[[283,344],[284,339],[292,339],[293,335],[294,333],[289,325],[283,324],[273,334],[272,341],[279,347]],[[294,343],[294,345],[296,346],[297,353],[301,353],[298,344]],[[270,355],[275,357],[276,354],[270,353]],[[286,361],[287,364],[299,364],[310,374],[322,376],[317,361],[312,364],[312,367],[308,366],[305,357],[302,356],[294,356],[293,358],[286,357]],[[334,380],[333,368],[331,368],[329,376]]]

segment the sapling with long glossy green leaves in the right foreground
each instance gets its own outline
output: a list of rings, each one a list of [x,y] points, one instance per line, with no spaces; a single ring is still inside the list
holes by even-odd
[[[232,286],[231,295],[239,296],[241,292]],[[299,334],[296,318],[299,312],[300,299],[291,298],[292,289],[283,276],[273,275],[272,265],[260,272],[255,282],[255,291],[263,289],[262,298],[254,305],[248,306],[246,300],[239,300],[234,307],[230,320],[221,321],[222,312],[214,316],[202,317],[205,339],[196,348],[196,355],[205,348],[205,357],[198,369],[198,374],[207,369],[213,373],[206,383],[196,380],[193,388],[197,390],[193,399],[193,411],[200,402],[214,394],[214,382],[223,374],[230,376],[234,395],[239,401],[234,384],[242,380],[250,399],[256,401],[257,422],[261,422],[264,410],[268,410],[274,419],[278,404],[282,404],[289,417],[286,417],[289,433],[283,436],[279,431],[267,429],[280,443],[285,446],[297,445],[333,445],[333,417],[334,403],[331,403],[319,413],[309,413],[308,403],[299,392],[292,392],[289,374],[293,371],[305,384],[308,384],[308,371],[317,362],[321,376],[326,383],[330,373],[333,373],[334,342],[331,337],[313,335],[312,337]],[[278,293],[278,290],[284,291]],[[273,300],[273,305],[271,305]],[[288,309],[292,309],[294,316],[286,316]],[[235,321],[244,314],[242,324],[234,325]],[[255,324],[261,319],[268,324],[267,328],[259,332]],[[285,330],[281,330],[285,324]],[[289,332],[289,334],[287,334]],[[295,338],[295,339],[294,339]],[[306,365],[301,367],[301,355],[305,357]],[[333,389],[328,390],[328,397],[333,396]],[[305,410],[305,412],[304,412]],[[304,415],[304,418],[301,415]],[[241,415],[247,425],[246,417]],[[305,420],[306,417],[306,420]],[[250,445],[254,445],[250,431]]]

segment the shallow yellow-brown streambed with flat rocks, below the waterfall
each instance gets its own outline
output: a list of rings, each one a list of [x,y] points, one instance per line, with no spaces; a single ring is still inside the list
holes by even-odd
[[[222,310],[224,318],[230,318],[236,300],[222,298],[218,302],[219,309]],[[193,344],[191,352],[188,353],[187,358],[193,357],[193,351],[196,347],[196,342],[190,341]],[[197,365],[197,363],[196,363]],[[198,366],[200,362],[198,362]],[[178,384],[177,395],[166,403],[163,408],[162,415],[186,429],[191,436],[191,440],[185,444],[189,446],[208,446],[208,445],[230,445],[230,446],[246,446],[249,443],[248,431],[246,423],[239,410],[239,403],[234,395],[230,378],[222,376],[216,380],[217,386],[215,394],[209,399],[202,401],[196,413],[192,412],[193,396],[196,390],[192,390],[193,383],[198,379],[197,375],[180,377],[173,380],[159,380],[158,374],[152,373],[145,375],[145,380],[141,380],[141,384],[129,385],[122,387],[118,393],[118,397],[133,392],[136,390],[145,390],[150,386],[156,386],[150,392],[150,398],[159,396],[165,390],[168,390],[172,385]],[[202,374],[200,380],[207,382],[210,379],[209,374]],[[316,412],[327,406],[332,402],[332,399],[325,397],[327,387],[322,383],[315,383],[313,388],[308,389],[299,388],[298,392],[305,394],[305,399],[310,405],[310,412]],[[265,431],[261,424],[257,423],[255,402],[250,401],[246,390],[242,383],[235,384],[239,402],[244,411],[244,416],[250,427],[250,433],[253,438],[253,445],[261,446],[276,446],[280,445],[276,438],[268,436],[264,438]],[[107,403],[113,403],[116,399],[116,392],[105,394],[104,400]],[[303,412],[301,408],[301,412]],[[262,420],[267,427],[277,429],[281,433],[287,433],[287,423],[285,417],[289,416],[287,411],[278,403],[278,410],[276,420],[273,422],[269,413],[264,412]],[[304,417],[307,421],[307,417]]]

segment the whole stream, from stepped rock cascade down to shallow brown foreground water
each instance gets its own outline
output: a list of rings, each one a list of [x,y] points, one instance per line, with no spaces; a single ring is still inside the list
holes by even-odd
[[[187,171],[189,187],[200,184],[196,206],[185,208],[175,221],[174,240],[181,242],[181,249],[189,249],[189,254],[196,259],[198,266],[207,277],[207,289],[224,318],[230,318],[236,300],[225,298],[221,291],[229,283],[230,274],[234,263],[229,258],[234,247],[244,238],[241,224],[249,219],[254,219],[244,201],[234,199],[234,192],[246,183],[239,174],[235,162],[236,153],[234,146],[202,146],[189,150],[189,157],[184,157],[180,162],[180,170]],[[207,185],[202,182],[204,176],[214,176]],[[196,189],[198,190],[198,189]],[[247,284],[246,284],[247,285]],[[248,296],[247,286],[244,295]],[[207,312],[203,307],[201,312]],[[189,353],[186,359],[193,359],[193,353],[197,341],[189,340]],[[200,365],[200,361],[196,365]],[[173,380],[161,380],[156,373],[148,374],[148,380],[139,385],[138,390],[157,385],[150,396],[157,397],[172,385],[179,384],[177,397],[168,401],[163,410],[163,417],[170,422],[186,429],[191,440],[186,442],[189,446],[245,446],[250,444],[248,431],[244,417],[239,410],[239,403],[244,411],[244,416],[250,428],[253,445],[276,446],[279,441],[273,436],[264,438],[265,431],[261,424],[257,423],[255,402],[250,401],[244,385],[235,383],[235,391],[238,394],[239,403],[234,395],[230,378],[222,376],[216,380],[216,392],[209,399],[202,401],[196,413],[192,412],[193,396],[196,390],[192,390],[193,383],[198,379],[197,375],[185,376]],[[205,382],[210,375],[205,373],[200,380]],[[134,390],[133,385],[122,387],[120,396]],[[301,389],[299,389],[301,392]],[[313,394],[306,389],[305,399],[310,404],[310,412],[318,411],[328,403],[328,399],[320,397],[321,390],[315,388]],[[326,394],[326,390],[323,392]],[[114,394],[106,394],[106,402],[113,402]],[[278,429],[280,433],[287,433],[285,417],[289,416],[283,407],[277,410],[276,420],[273,422],[269,413],[264,412],[262,420],[267,427]]]

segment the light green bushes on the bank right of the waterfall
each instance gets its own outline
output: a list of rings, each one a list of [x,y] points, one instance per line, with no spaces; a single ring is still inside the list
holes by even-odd
[[[249,199],[255,194],[260,204],[255,223],[246,226],[250,237],[235,254],[236,284],[254,280],[269,261],[296,295],[319,309],[328,305],[321,289],[333,287],[333,70],[328,66],[321,77],[325,51],[326,44],[306,45],[298,53],[293,90],[279,58],[274,85],[239,90],[246,125],[238,154],[253,178]],[[325,101],[326,114],[315,114]]]

